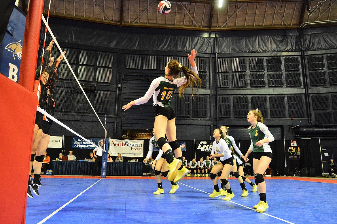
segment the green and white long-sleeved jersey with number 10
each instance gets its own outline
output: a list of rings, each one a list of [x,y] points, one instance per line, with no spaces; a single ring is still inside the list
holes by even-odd
[[[198,74],[197,67],[193,67],[192,71],[195,74]],[[144,104],[148,102],[153,95],[153,106],[158,104],[161,107],[169,107],[171,106],[171,97],[172,94],[177,90],[179,86],[186,82],[186,77],[181,77],[177,79],[169,80],[164,76],[160,76],[155,78],[150,88],[147,90],[144,97],[141,97],[135,100],[136,105]]]

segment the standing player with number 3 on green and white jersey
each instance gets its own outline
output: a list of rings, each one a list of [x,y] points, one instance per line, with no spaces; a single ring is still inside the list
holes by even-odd
[[[273,158],[272,150],[268,143],[274,141],[274,136],[263,123],[261,111],[258,109],[248,112],[247,121],[251,124],[248,127],[251,144],[245,155],[245,159],[247,159],[251,152],[254,152],[253,169],[255,183],[260,195],[260,202],[253,206],[253,208],[257,212],[264,212],[269,206],[266,199],[266,182],[263,179],[263,174]]]

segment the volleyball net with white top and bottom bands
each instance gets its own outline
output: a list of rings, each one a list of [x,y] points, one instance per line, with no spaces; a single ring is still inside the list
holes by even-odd
[[[104,115],[99,116],[95,110],[95,106],[99,106],[94,104],[96,96],[93,89],[95,86],[89,83],[85,89],[82,87],[84,83],[80,83],[79,78],[86,75],[88,71],[78,70],[76,76],[75,72],[78,67],[74,63],[77,57],[76,51],[61,47],[55,38],[57,35],[54,35],[48,25],[48,18],[46,20],[43,15],[41,18],[42,32],[35,79],[43,80],[42,76],[46,70],[48,71],[49,77],[45,83],[45,91],[48,91],[47,96],[53,98],[54,104],[47,101],[47,109],[38,107],[37,110],[46,117],[47,121],[58,124],[58,126],[52,126],[53,133],[59,133],[60,136],[75,135],[93,147],[98,147],[88,140],[92,137],[106,140],[106,128],[101,121],[104,120]],[[41,91],[42,94],[45,93]],[[102,147],[105,151],[105,144]]]

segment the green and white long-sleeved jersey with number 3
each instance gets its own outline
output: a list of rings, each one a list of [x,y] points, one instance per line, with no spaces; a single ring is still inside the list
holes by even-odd
[[[248,132],[250,135],[250,147],[248,150],[253,152],[272,152],[272,149],[270,148],[270,145],[268,142],[263,143],[262,146],[257,146],[256,142],[263,140],[263,139],[269,139],[269,142],[274,141],[274,136],[270,133],[268,130],[268,127],[261,122],[257,122],[256,127],[252,128],[250,125],[248,127]]]

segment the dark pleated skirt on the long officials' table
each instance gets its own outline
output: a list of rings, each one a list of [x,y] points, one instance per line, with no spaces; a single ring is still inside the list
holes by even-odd
[[[92,175],[94,162],[53,161],[54,175]],[[107,162],[106,176],[142,176],[142,162]]]

